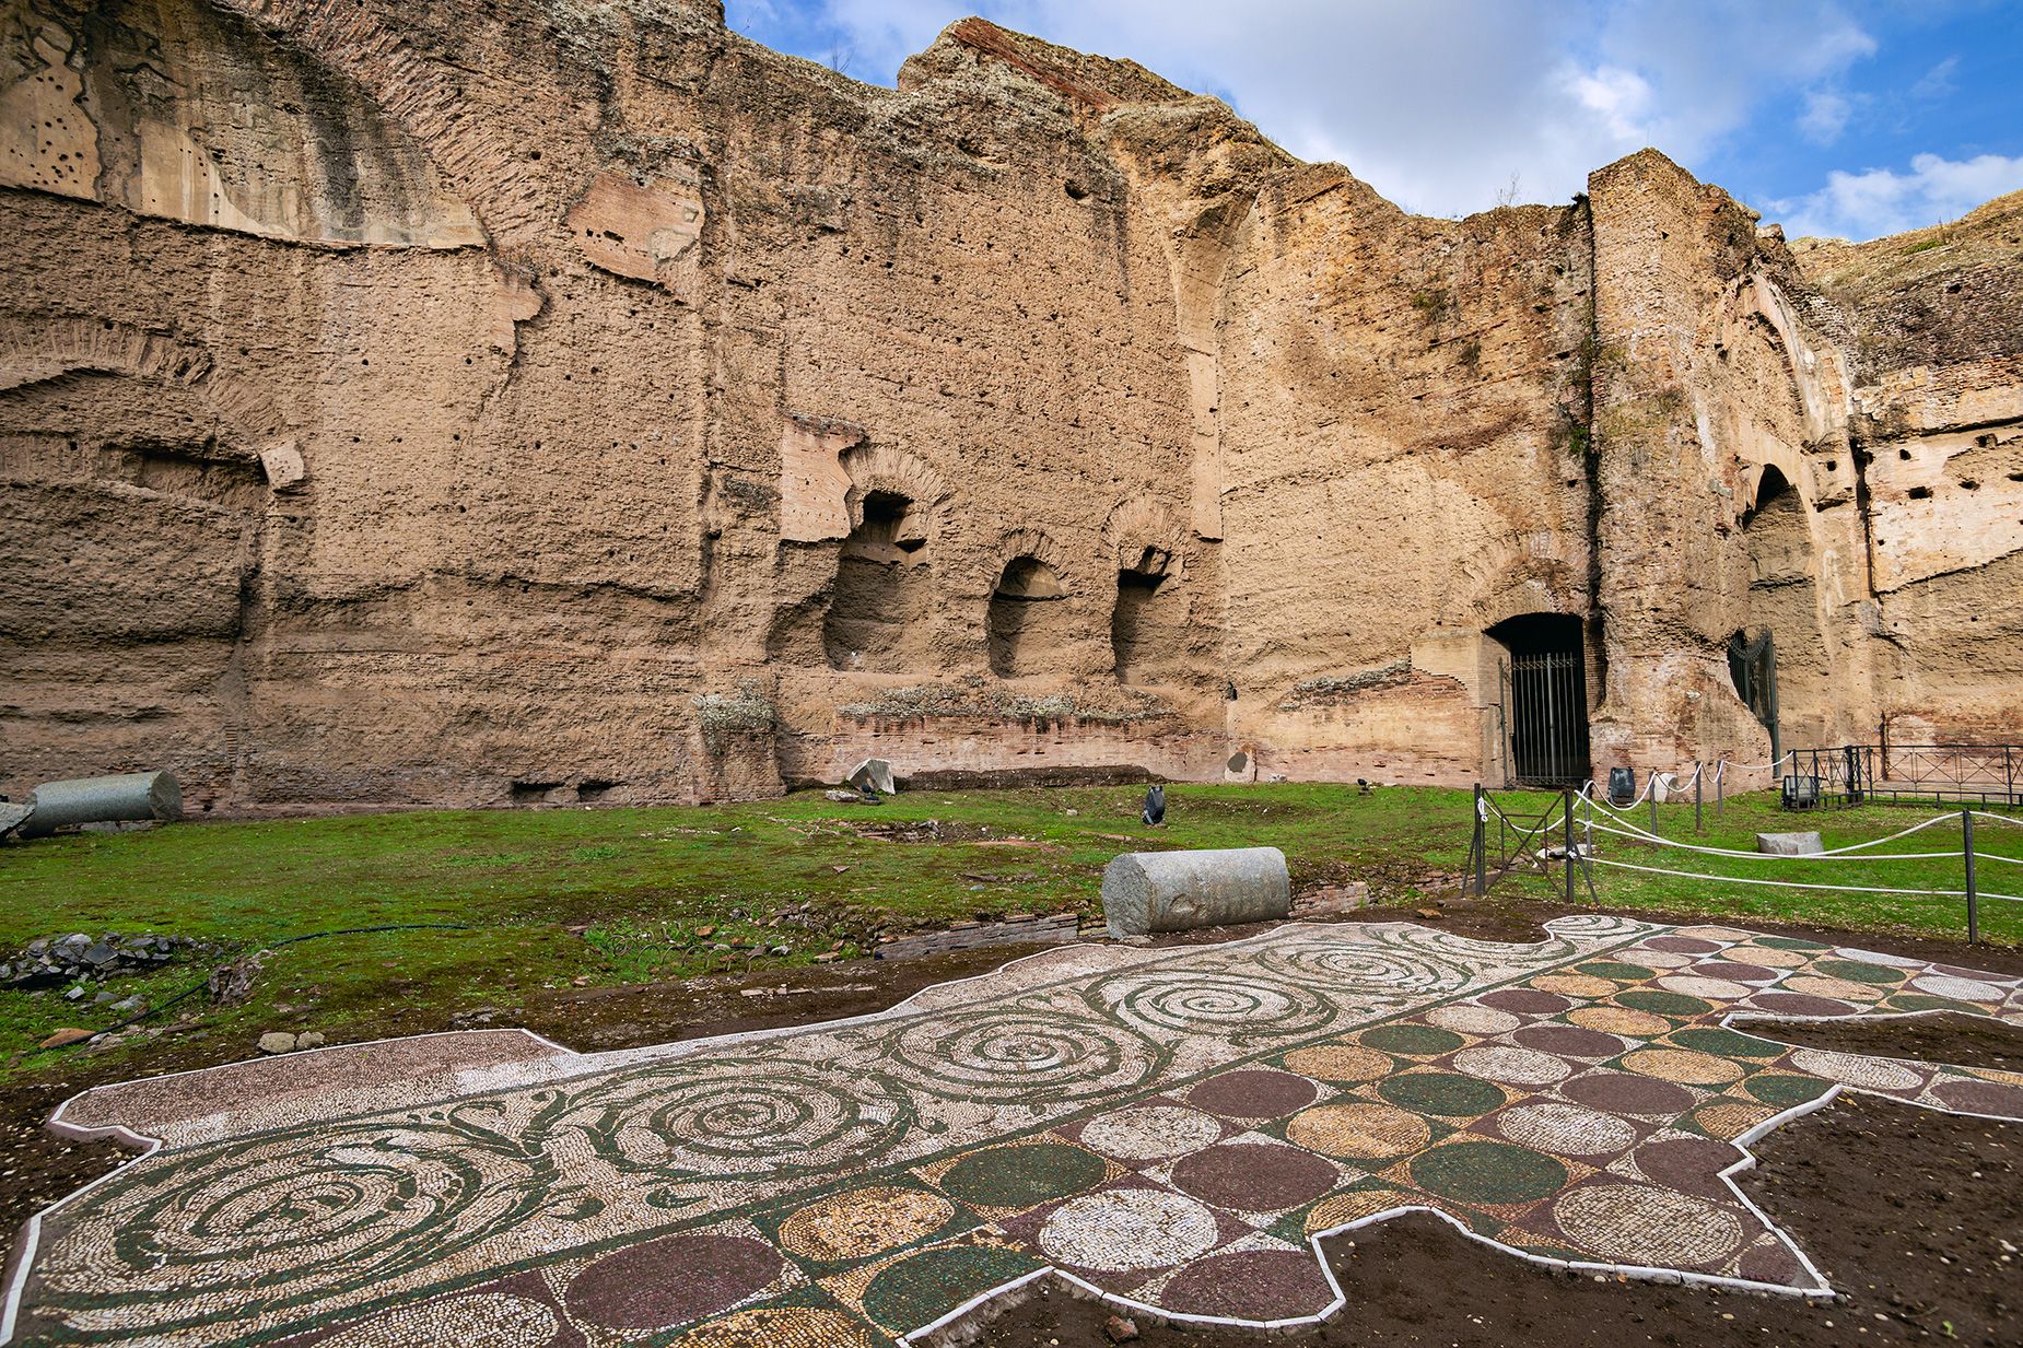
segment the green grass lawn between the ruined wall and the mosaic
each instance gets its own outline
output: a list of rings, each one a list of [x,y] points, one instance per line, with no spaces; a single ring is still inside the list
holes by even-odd
[[[160,931],[216,943],[223,959],[348,927],[455,923],[465,931],[338,935],[275,949],[253,996],[212,1008],[198,994],[190,1034],[251,1038],[267,1028],[382,1020],[388,1006],[447,1016],[516,1006],[542,990],[653,982],[854,957],[880,935],[953,919],[1101,909],[1103,866],[1139,846],[1272,844],[1295,887],[1370,878],[1400,909],[1453,893],[1469,852],[1469,793],[1339,785],[1175,785],[1161,830],[1137,822],[1141,791],[920,791],[884,806],[801,793],[736,806],[378,814],[259,824],[186,824],[0,848],[0,957],[69,931]],[[1552,797],[1499,795],[1544,808]],[[1699,842],[1752,846],[1758,830],[1819,828],[1827,846],[1896,832],[1938,808],[1788,816],[1772,795],[1707,806]],[[1691,804],[1665,806],[1661,832],[1691,836]],[[1649,822],[1649,812],[1639,812]],[[1732,876],[1900,889],[1960,889],[1956,822],[1892,844],[1948,852],[1928,862],[1792,864],[1657,852],[1598,834],[1602,856]],[[2023,828],[1985,824],[1987,852],[2023,856]],[[1604,907],[1851,929],[1964,935],[1956,899],[1894,899],[1598,870]],[[1981,884],[2023,893],[2023,866],[1983,862]],[[1554,899],[1554,876],[1513,874],[1497,895]],[[2023,905],[1985,903],[1983,937],[2023,941]],[[785,947],[785,949],[783,949]],[[781,951],[783,953],[775,953]],[[210,959],[107,984],[152,1004],[188,988]],[[97,994],[97,988],[91,990]],[[117,1016],[63,990],[0,992],[0,1073],[65,1055],[24,1052],[61,1026]],[[125,1050],[119,1050],[125,1052]]]

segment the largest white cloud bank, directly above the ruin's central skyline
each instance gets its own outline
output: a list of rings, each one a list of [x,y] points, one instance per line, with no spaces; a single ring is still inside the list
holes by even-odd
[[[1766,101],[1875,51],[1839,0],[819,4],[858,77],[890,79],[945,24],[981,12],[1222,93],[1287,150],[1339,160],[1432,215],[1491,206],[1511,174],[1537,200],[1566,200],[1592,168],[1647,144],[1691,164]]]

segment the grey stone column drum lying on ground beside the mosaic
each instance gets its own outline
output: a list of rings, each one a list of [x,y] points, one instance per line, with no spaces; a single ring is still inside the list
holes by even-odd
[[[1127,852],[1103,870],[1113,937],[1262,923],[1293,911],[1279,848]]]

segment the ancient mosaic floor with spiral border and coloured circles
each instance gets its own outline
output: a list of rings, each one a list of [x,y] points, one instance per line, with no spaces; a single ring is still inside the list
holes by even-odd
[[[1268,1324],[1339,1303],[1311,1237],[1402,1208],[1533,1259],[1821,1291],[1726,1180],[1748,1142],[1837,1087],[2023,1119],[2023,1075],[1746,1032],[2023,1022],[2019,980],[1728,927],[1550,933],[1072,947],[854,1022],[522,1055],[451,1097],[433,1059],[415,1085],[291,1089],[267,1115],[178,1113],[200,1081],[93,1093],[73,1129],[146,1097],[162,1146],[38,1218],[0,1328],[860,1348],[1046,1269]],[[255,1069],[225,1071],[245,1091]]]

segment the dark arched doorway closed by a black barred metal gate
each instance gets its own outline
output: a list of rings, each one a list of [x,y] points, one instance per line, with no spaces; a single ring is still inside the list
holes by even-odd
[[[1511,654],[1503,727],[1517,785],[1588,779],[1588,666],[1580,619],[1523,613],[1489,629]]]

